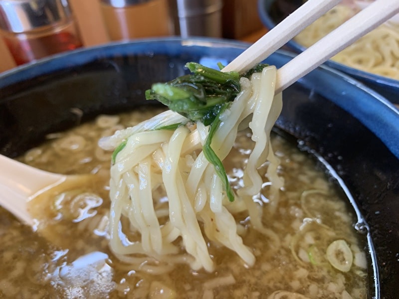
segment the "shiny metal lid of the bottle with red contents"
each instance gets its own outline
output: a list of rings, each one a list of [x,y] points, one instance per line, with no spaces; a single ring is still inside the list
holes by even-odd
[[[68,0],[0,0],[0,29],[20,33],[67,20]]]

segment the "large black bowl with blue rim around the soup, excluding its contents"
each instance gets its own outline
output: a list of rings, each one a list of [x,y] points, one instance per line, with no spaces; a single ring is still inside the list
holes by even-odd
[[[227,64],[248,45],[219,39],[170,38],[77,50],[0,75],[0,152],[15,157],[100,113],[144,100],[153,82],[187,72],[197,61]],[[292,54],[277,52],[277,67]],[[320,67],[283,92],[275,131],[308,151],[349,198],[367,236],[368,298],[399,294],[399,111],[341,73]],[[83,111],[77,116],[74,108]],[[1,170],[3,171],[3,169]]]

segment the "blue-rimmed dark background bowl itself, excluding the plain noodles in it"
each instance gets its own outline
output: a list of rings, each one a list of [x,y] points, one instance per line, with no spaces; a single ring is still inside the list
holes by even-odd
[[[258,12],[262,23],[269,29],[281,22],[289,13],[303,3],[303,0],[258,0]],[[306,47],[291,39],[286,44],[287,49],[301,53]],[[371,87],[391,102],[399,104],[399,81],[369,72],[364,72],[344,64],[328,60],[328,66],[340,70],[358,81]]]

